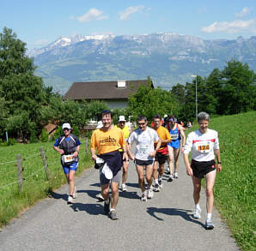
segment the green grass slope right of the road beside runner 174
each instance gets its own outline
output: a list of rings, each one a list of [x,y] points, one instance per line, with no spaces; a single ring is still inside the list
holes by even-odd
[[[212,118],[209,126],[218,131],[222,158],[222,172],[214,187],[215,205],[243,250],[256,249],[255,124],[256,112],[252,111]]]

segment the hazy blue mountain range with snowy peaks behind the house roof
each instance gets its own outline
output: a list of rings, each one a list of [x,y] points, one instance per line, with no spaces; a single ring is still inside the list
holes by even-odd
[[[209,75],[231,59],[256,70],[256,37],[204,40],[177,33],[143,35],[76,35],[60,37],[30,51],[37,74],[61,93],[74,81],[135,80],[151,76],[155,85],[170,88]]]

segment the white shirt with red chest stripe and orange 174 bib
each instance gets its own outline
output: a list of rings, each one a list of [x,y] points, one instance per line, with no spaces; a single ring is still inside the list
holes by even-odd
[[[188,154],[191,149],[192,159],[196,161],[214,159],[214,149],[219,149],[217,132],[208,128],[205,134],[201,134],[199,129],[188,134],[184,153]]]

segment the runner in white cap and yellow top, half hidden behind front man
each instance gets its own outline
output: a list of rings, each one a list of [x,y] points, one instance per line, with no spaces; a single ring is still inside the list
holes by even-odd
[[[118,128],[120,128],[123,133],[124,133],[124,137],[125,140],[127,141],[129,138],[129,135],[131,134],[131,128],[128,128],[128,126],[126,125],[126,120],[125,120],[125,116],[119,116],[119,124],[117,125]],[[123,155],[124,151],[122,148],[119,149],[119,152],[121,153],[121,155]],[[128,165],[129,165],[129,160],[125,160],[123,162],[123,175],[122,175],[122,185],[121,185],[121,189],[123,192],[127,191],[125,182],[127,181],[127,176],[128,176]]]

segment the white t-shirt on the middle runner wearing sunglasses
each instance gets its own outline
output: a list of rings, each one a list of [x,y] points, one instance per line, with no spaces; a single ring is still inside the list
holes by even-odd
[[[158,141],[159,136],[152,128],[147,127],[144,131],[137,128],[128,138],[128,143],[131,145],[133,141],[136,142],[135,158],[140,160],[153,160],[149,157],[149,153],[155,150],[154,141]]]

